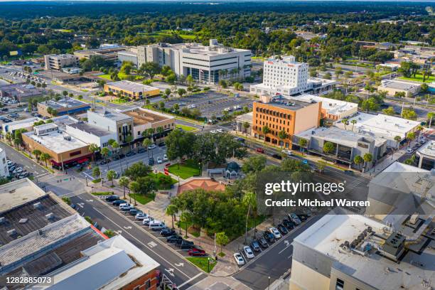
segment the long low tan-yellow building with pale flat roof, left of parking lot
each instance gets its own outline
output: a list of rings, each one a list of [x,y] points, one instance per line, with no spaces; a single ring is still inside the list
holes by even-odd
[[[157,87],[142,85],[129,80],[119,80],[118,82],[107,82],[104,84],[104,92],[113,93],[113,95],[122,95],[130,99],[144,99],[160,95]]]

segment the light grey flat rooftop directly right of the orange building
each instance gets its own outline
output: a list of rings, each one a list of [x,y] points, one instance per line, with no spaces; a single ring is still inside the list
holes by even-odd
[[[331,141],[336,144],[341,144],[349,147],[358,146],[358,141],[361,139],[368,139],[370,141],[375,141],[375,146],[382,146],[386,142],[385,139],[372,138],[372,136],[367,136],[367,134],[358,134],[353,131],[348,131],[344,129],[339,129],[337,127],[318,127],[302,131],[295,136],[310,139],[311,136],[316,136],[325,141]]]

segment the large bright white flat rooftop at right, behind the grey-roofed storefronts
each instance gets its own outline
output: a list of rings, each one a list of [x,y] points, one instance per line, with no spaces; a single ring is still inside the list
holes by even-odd
[[[349,124],[351,124],[352,120],[356,120],[354,131],[378,134],[389,139],[394,139],[394,136],[401,136],[403,139],[409,131],[414,130],[420,124],[420,122],[417,121],[385,114],[367,114],[363,112],[358,112],[355,116],[349,117]],[[335,122],[335,127],[341,128],[343,126],[341,120]],[[348,128],[350,128],[350,126],[348,126]]]

